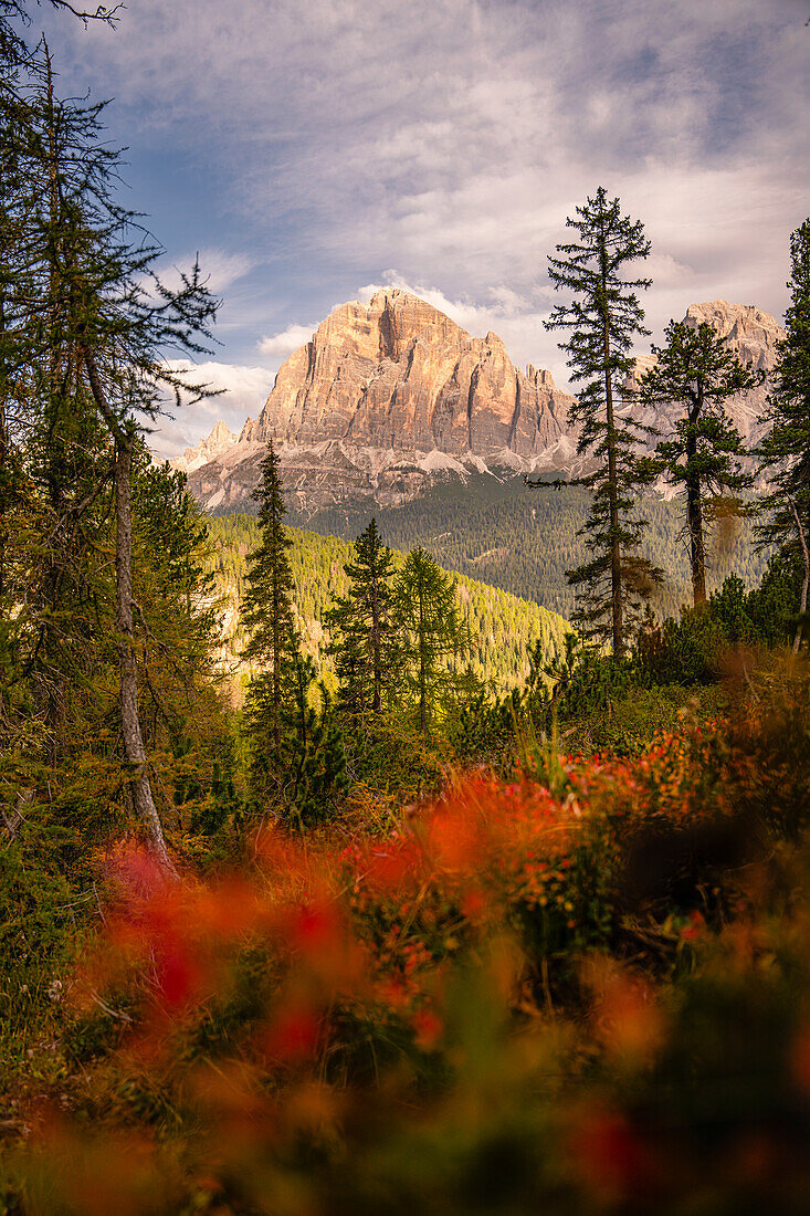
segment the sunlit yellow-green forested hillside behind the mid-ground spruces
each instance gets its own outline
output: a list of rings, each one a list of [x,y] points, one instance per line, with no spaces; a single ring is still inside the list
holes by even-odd
[[[296,612],[302,621],[306,648],[316,664],[328,671],[331,660],[324,654],[324,614],[338,596],[347,593],[344,567],[351,559],[353,548],[345,540],[320,536],[299,528],[291,528],[289,536]],[[229,664],[235,664],[246,642],[238,607],[244,595],[247,558],[259,542],[257,519],[252,516],[212,519],[209,542],[207,565],[214,575],[216,598],[221,601],[226,642],[224,657]],[[404,561],[401,552],[394,553],[396,570],[401,569]],[[457,584],[463,621],[472,640],[472,670],[494,689],[504,692],[523,682],[529,670],[528,653],[534,642],[542,642],[549,659],[564,651],[568,626],[557,613],[463,574],[459,575]]]

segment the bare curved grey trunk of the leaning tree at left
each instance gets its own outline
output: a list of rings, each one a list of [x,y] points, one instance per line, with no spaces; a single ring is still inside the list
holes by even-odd
[[[146,829],[150,845],[161,867],[176,878],[176,871],[165,846],[161,817],[152,796],[137,713],[137,666],[133,620],[131,473],[133,434],[125,430],[116,437],[116,626],[120,665],[120,725],[135,812]]]

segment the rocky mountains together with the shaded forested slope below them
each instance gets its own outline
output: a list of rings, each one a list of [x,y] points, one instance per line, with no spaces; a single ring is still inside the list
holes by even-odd
[[[708,321],[754,370],[774,367],[783,331],[754,305],[692,304],[685,321]],[[640,355],[637,366],[648,365]],[[631,379],[626,410],[632,388]],[[747,444],[761,434],[766,394],[767,381],[727,404]],[[558,485],[585,468],[568,423],[572,401],[550,372],[517,368],[497,334],[476,338],[416,295],[387,288],[367,305],[336,309],[286,360],[238,437],[218,422],[173,463],[208,512],[252,513],[272,439],[291,523],[354,540],[373,514],[392,545],[421,544],[448,569],[567,614],[564,572],[587,511],[584,491]],[[642,421],[665,435],[671,415],[657,407]],[[527,474],[539,491],[525,489]],[[643,510],[645,550],[665,556],[670,570],[653,606],[663,615],[688,597],[681,508],[653,495]],[[737,522],[714,535],[711,585],[730,573],[750,585],[761,574],[747,531]]]

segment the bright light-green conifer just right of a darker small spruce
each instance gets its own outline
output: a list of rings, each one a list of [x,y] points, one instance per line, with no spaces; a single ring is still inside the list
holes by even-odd
[[[455,579],[421,545],[407,554],[393,595],[405,691],[426,739],[443,696],[456,682],[450,663],[469,649],[469,637],[459,615]]]

